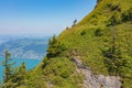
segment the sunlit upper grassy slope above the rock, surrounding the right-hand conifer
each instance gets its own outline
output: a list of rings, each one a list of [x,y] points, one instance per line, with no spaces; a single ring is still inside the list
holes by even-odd
[[[121,50],[123,58],[129,62],[123,73],[123,86],[132,86],[132,16],[122,20],[127,11],[132,14],[132,0],[102,0],[97,8],[84,18],[77,25],[65,30],[59,35],[59,41],[68,46],[68,51],[78,51],[85,65],[92,68],[95,74],[108,75],[103,64],[101,50],[106,50],[112,42],[112,29],[116,30],[116,44]],[[118,24],[110,25],[110,20],[116,16]],[[96,35],[97,30],[100,35]]]

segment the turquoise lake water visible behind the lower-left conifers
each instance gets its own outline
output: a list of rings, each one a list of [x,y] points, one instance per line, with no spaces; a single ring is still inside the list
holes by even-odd
[[[0,57],[0,63],[2,63],[2,61],[4,59],[4,57]],[[26,65],[26,69],[31,70],[33,69],[36,65],[38,65],[38,63],[41,63],[41,59],[23,59],[23,58],[13,58],[12,62],[15,62],[14,66],[20,66],[22,62],[25,63]],[[3,66],[0,66],[0,79],[2,79],[3,77]]]

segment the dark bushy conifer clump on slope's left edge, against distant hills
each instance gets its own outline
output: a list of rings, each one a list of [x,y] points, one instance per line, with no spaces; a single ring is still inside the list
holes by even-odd
[[[48,41],[48,48],[47,48],[47,57],[55,57],[59,55],[63,51],[66,50],[66,46],[58,42],[56,36],[54,35],[52,38]]]

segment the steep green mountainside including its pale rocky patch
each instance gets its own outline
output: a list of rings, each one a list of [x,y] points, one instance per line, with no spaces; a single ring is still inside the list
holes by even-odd
[[[132,88],[131,3],[132,0],[98,0],[90,14],[58,36],[67,50],[45,57],[18,87]],[[117,63],[121,73],[109,72],[106,66],[110,57],[106,51],[114,46],[119,51],[112,57],[127,61],[125,66]]]

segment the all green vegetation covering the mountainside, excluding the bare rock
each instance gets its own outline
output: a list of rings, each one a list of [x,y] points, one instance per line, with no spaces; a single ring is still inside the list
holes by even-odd
[[[79,56],[94,74],[119,75],[122,87],[132,88],[131,3],[98,0],[82,21],[50,40],[46,57],[18,88],[82,88],[84,76],[76,72],[69,56]]]

